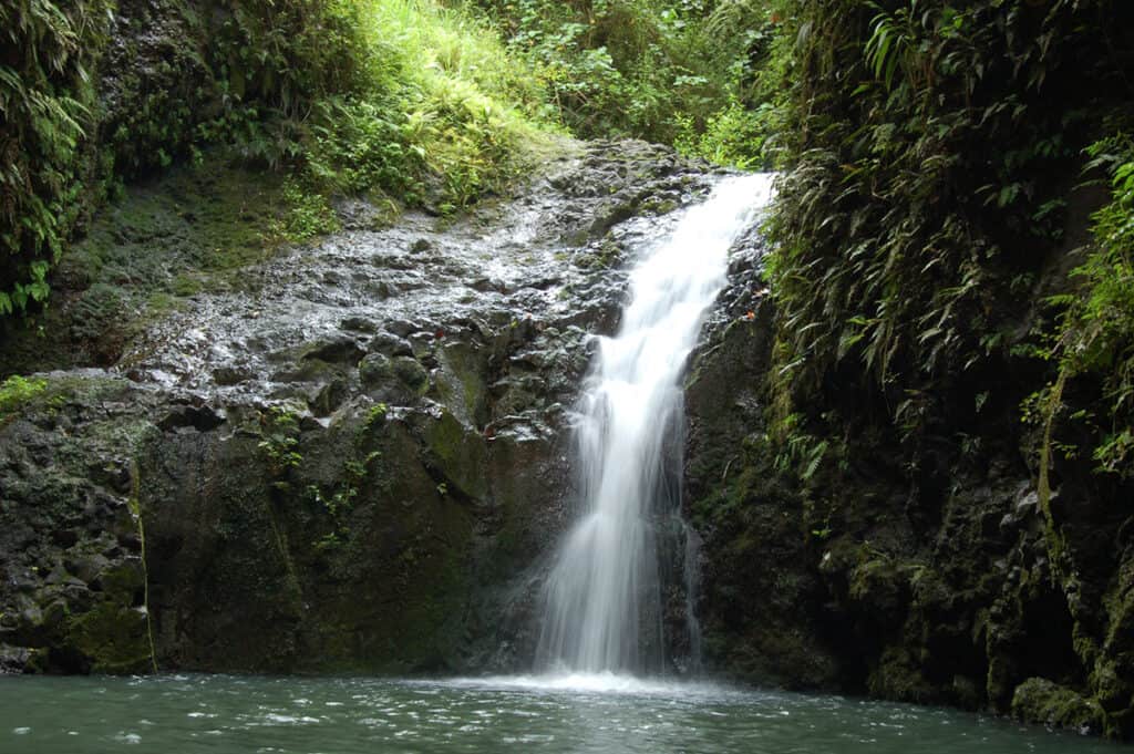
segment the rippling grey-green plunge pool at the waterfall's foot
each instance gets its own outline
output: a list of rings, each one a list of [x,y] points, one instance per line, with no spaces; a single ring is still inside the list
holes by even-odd
[[[1118,748],[954,710],[609,673],[455,680],[0,677],[0,752],[7,754]]]

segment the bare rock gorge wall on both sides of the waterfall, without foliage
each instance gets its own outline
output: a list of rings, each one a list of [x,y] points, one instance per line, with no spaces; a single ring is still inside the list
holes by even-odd
[[[364,203],[345,203],[353,229],[116,328],[133,334],[109,368],[9,341],[25,368],[66,368],[0,426],[3,667],[527,667],[570,515],[567,413],[586,333],[615,325],[626,248],[711,181],[657,147],[565,150],[458,222],[375,229]],[[143,187],[105,222],[185,181]],[[153,254],[213,238],[130,232]],[[709,672],[1120,734],[1126,512],[1065,480],[1052,511],[1067,571],[1008,440],[979,455],[931,441],[916,473],[882,431],[803,475],[780,463],[763,246],[734,249],[686,382]],[[82,291],[71,302],[59,316],[77,325]],[[953,429],[996,442],[1004,421]]]

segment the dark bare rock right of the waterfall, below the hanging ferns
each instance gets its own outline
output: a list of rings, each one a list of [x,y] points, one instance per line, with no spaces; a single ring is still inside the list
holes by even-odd
[[[1061,461],[1044,510],[1014,405],[958,413],[916,452],[865,420],[840,447],[777,449],[759,269],[735,260],[687,382],[709,668],[1134,734],[1128,494]]]

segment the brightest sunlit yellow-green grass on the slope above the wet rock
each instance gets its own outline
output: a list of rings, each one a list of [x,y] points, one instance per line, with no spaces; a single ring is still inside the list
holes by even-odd
[[[397,112],[386,117],[406,160],[440,184],[442,209],[493,190],[525,154],[564,133],[539,71],[484,22],[430,0],[359,0],[358,8],[366,50],[380,58],[367,66],[374,91],[392,95]]]

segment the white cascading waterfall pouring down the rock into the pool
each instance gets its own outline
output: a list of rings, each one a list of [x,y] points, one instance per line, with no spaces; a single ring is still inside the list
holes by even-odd
[[[658,522],[677,515],[683,393],[728,249],[771,192],[767,175],[726,178],[631,273],[613,338],[599,338],[576,425],[579,520],[548,577],[539,662],[572,672],[662,668]],[[695,638],[691,624],[691,644]]]

